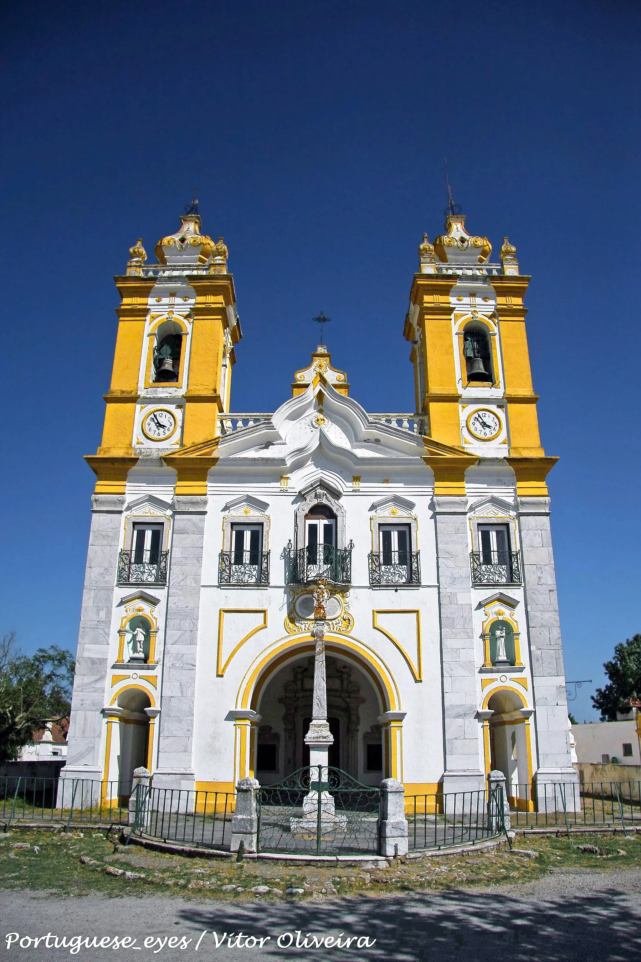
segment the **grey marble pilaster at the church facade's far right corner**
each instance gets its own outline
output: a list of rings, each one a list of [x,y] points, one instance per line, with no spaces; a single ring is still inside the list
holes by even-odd
[[[576,781],[570,759],[568,706],[550,531],[550,498],[519,498],[519,526],[525,588],[537,781]]]

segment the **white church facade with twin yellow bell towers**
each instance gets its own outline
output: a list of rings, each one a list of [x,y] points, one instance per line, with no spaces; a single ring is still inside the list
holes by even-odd
[[[329,762],[513,804],[576,781],[519,272],[452,213],[419,248],[411,414],[368,413],[320,345],[275,412],[234,414],[222,239],[195,211],[121,295],[64,778],[234,790],[308,765],[326,585]],[[105,789],[107,791],[107,789]]]

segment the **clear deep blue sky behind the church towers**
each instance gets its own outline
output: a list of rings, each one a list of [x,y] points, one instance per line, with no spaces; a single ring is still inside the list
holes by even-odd
[[[403,321],[441,231],[516,244],[570,679],[641,631],[636,3],[17,3],[0,31],[0,628],[74,648],[128,248],[198,187],[244,340],[232,408],[270,411],[332,323],[370,410],[413,408]],[[591,715],[583,686],[579,720]]]

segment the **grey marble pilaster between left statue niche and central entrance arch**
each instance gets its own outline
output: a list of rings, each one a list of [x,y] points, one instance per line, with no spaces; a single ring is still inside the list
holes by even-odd
[[[194,788],[196,654],[207,498],[174,498],[155,788]]]

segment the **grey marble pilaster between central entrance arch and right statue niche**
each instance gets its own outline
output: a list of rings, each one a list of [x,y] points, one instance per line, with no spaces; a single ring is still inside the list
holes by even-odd
[[[470,589],[467,499],[435,495],[436,559],[441,622],[445,773],[443,791],[484,787]]]

